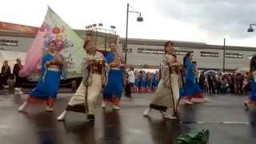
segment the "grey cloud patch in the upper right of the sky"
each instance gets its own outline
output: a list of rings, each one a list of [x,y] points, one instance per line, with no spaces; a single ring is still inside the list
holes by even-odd
[[[160,0],[155,6],[166,17],[196,25],[212,38],[256,35],[246,32],[256,22],[254,0]]]

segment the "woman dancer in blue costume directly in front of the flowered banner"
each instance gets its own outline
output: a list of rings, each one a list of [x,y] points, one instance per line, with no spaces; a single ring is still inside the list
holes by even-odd
[[[63,59],[56,51],[56,43],[50,42],[47,54],[42,58],[42,77],[38,85],[26,98],[26,102],[18,108],[18,111],[25,110],[29,103],[45,103],[46,110],[53,111],[55,99],[58,94],[58,87],[62,75]]]

